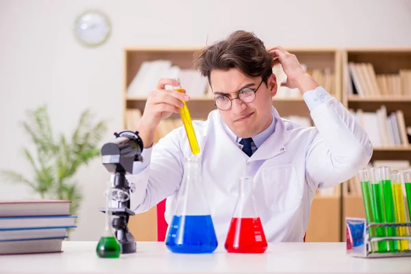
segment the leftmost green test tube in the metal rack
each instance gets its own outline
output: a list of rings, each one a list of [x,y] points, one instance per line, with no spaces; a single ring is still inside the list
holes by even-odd
[[[361,169],[358,171],[360,175],[362,201],[364,202],[364,210],[367,223],[375,223],[373,214],[373,192],[371,190],[370,175],[368,169]],[[371,237],[377,236],[375,227],[369,228],[369,234]],[[378,243],[371,242],[371,251],[378,252]]]

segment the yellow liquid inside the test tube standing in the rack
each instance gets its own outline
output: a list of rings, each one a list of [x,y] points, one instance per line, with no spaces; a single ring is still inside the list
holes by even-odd
[[[406,206],[403,199],[401,184],[393,184],[395,222],[406,223]],[[408,227],[396,227],[398,236],[408,236]],[[408,251],[408,240],[399,240],[399,251]]]

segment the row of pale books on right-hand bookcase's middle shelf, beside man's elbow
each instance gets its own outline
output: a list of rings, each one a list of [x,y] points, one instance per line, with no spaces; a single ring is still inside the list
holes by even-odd
[[[408,147],[411,127],[406,126],[402,110],[387,113],[382,105],[376,112],[349,109],[357,123],[369,135],[373,147]]]

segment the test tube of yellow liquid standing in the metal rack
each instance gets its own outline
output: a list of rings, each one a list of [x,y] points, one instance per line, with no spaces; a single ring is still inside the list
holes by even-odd
[[[403,177],[399,171],[391,171],[391,182],[393,184],[393,199],[394,199],[394,215],[396,223],[406,223],[406,204],[404,203],[403,195]],[[395,229],[398,236],[407,236],[407,227],[396,227]],[[398,249],[399,251],[409,250],[408,240],[399,240]]]

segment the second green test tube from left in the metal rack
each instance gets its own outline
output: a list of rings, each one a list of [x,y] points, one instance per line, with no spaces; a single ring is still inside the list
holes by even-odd
[[[372,208],[373,208],[373,216],[375,223],[384,223],[384,199],[382,195],[382,182],[379,182],[377,177],[379,175],[379,169],[372,168],[370,169],[370,182],[371,182],[371,193],[373,195],[372,199]],[[386,228],[385,227],[377,227],[376,229],[378,237],[386,236]],[[385,240],[380,240],[378,242],[378,252],[386,252],[387,251],[387,243]]]

